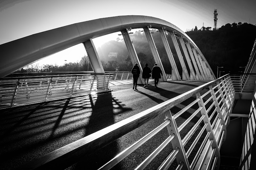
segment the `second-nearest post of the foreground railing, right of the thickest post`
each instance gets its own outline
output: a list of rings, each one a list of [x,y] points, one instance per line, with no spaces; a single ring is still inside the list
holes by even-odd
[[[200,95],[199,92],[196,93],[196,97],[200,99],[200,100],[197,102],[197,103],[198,103],[198,106],[199,106],[199,107],[203,107],[203,108],[200,110],[200,112],[201,112],[201,115],[202,115],[202,116],[205,115],[205,116],[204,116],[204,119],[203,119],[204,124],[205,124],[205,123],[208,123],[205,129],[206,129],[207,132],[210,131],[209,139],[210,139],[210,141],[213,140],[213,142],[212,142],[212,150],[213,150],[214,148],[216,149],[216,151],[214,152],[214,158],[215,158],[215,157],[218,157],[218,159],[217,159],[217,163],[216,163],[214,169],[218,170],[218,169],[220,168],[220,150],[219,150],[219,147],[218,147],[218,143],[217,143],[216,138],[215,138],[215,135],[214,135],[214,133],[213,133],[212,126],[211,126],[211,123],[210,123],[208,114],[207,114],[206,109],[205,109],[205,106],[204,106],[204,101],[203,101],[203,99],[202,99],[202,97],[201,97],[201,95]],[[206,145],[207,145],[207,144],[209,145],[209,144],[210,144],[210,141],[208,140],[208,142],[206,143]],[[210,160],[210,161],[211,161],[211,160]],[[192,169],[193,169],[193,168],[192,168]]]

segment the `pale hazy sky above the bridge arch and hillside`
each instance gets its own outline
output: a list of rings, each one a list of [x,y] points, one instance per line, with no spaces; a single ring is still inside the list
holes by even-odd
[[[0,0],[0,44],[61,26],[119,15],[161,18],[185,32],[195,26],[201,28],[203,22],[205,27],[213,27],[214,9],[218,12],[217,27],[233,22],[256,24],[255,0]],[[116,33],[113,35],[94,39],[95,46],[117,37]],[[77,57],[72,56],[71,60],[68,54]],[[84,54],[80,44],[50,57],[66,55],[67,62],[76,62]]]

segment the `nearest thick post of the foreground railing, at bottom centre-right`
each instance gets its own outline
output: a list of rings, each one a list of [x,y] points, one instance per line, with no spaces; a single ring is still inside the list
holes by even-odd
[[[185,152],[185,149],[183,147],[182,140],[181,140],[180,133],[179,133],[177,124],[175,122],[175,119],[174,119],[174,117],[172,117],[172,114],[171,114],[170,110],[164,112],[164,115],[165,115],[165,118],[166,118],[165,121],[168,120],[168,119],[171,121],[171,123],[166,126],[169,135],[172,135],[172,134],[175,135],[175,137],[171,141],[172,142],[172,148],[173,148],[173,150],[175,150],[177,148],[180,149],[180,151],[176,155],[177,163],[178,163],[178,165],[181,162],[184,163],[181,170],[190,170],[190,166],[189,166],[189,163],[188,163],[188,158],[186,156],[186,152]]]

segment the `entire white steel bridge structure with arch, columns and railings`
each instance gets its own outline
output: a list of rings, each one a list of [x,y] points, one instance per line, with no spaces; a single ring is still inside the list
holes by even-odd
[[[109,86],[110,82],[131,81],[132,75],[129,72],[104,71],[94,46],[93,38],[120,31],[133,65],[139,63],[140,70],[142,70],[133,42],[129,36],[129,31],[136,28],[143,28],[145,32],[154,60],[163,71],[161,81],[181,80],[180,75],[182,75],[182,80],[204,80],[206,83],[42,157],[31,160],[21,165],[20,168],[46,169],[58,165],[58,168],[65,169],[76,163],[76,160],[80,157],[96,152],[97,149],[152,121],[158,115],[165,116],[162,124],[159,124],[156,129],[126,148],[116,157],[111,158],[100,169],[111,169],[164,128],[167,129],[169,137],[164,139],[164,142],[149,154],[136,169],[144,169],[169,143],[172,145],[173,150],[164,162],[159,165],[159,169],[168,168],[173,160],[176,160],[178,165],[174,169],[218,170],[220,168],[220,149],[225,141],[227,143],[227,128],[231,122],[230,118],[232,116],[249,117],[249,115],[232,115],[232,112],[237,94],[239,94],[240,99],[243,98],[244,95],[242,94],[244,93],[250,94],[249,98],[255,94],[255,80],[251,79],[252,76],[248,76],[248,73],[252,73],[250,70],[254,69],[254,57],[250,58],[251,62],[247,66],[247,70],[250,72],[247,71],[240,77],[232,77],[228,74],[216,79],[204,55],[188,35],[177,26],[159,18],[135,15],[100,18],[33,34],[0,45],[2,55],[0,63],[1,107],[13,107],[91,93],[108,92],[111,89]],[[166,74],[164,71],[154,40],[150,34],[150,28],[159,30],[170,61],[172,74]],[[167,34],[171,35],[182,67],[182,73],[179,73],[177,69],[172,51],[166,39]],[[181,47],[179,47],[178,41]],[[42,73],[43,75],[30,74],[23,76],[14,76],[13,74],[11,77],[8,77],[8,75],[16,70],[80,43],[84,44],[93,73],[58,73],[59,75],[50,75],[52,73],[46,75]],[[13,48],[15,50],[12,50]],[[181,50],[185,57],[182,56]],[[254,53],[252,51],[252,55]],[[143,82],[141,76],[139,81],[140,83]],[[184,108],[181,108],[178,113],[171,113],[170,109],[172,107],[191,98],[194,100],[189,102]],[[196,107],[196,110],[193,110],[192,107]],[[185,112],[189,112],[191,115],[178,126],[175,120]],[[250,120],[252,120],[253,113],[251,111]],[[198,114],[200,116],[194,122],[193,127],[187,129],[186,125],[191,123],[191,120]],[[247,141],[245,144],[250,139],[249,141],[252,146],[254,134],[252,134],[252,131],[254,132],[255,123],[253,121],[250,123],[249,121],[247,129],[246,135],[248,137],[245,135],[245,141]],[[181,137],[180,132],[184,130],[186,135]],[[184,146],[193,135],[196,135],[196,138],[191,142],[188,151],[185,151]],[[201,142],[201,145],[196,151],[196,155],[193,156],[193,161],[189,162],[188,158],[198,142]],[[244,148],[248,148],[245,144]],[[250,153],[249,151],[245,152],[244,149],[240,161],[241,169],[249,169],[250,154],[251,151]]]

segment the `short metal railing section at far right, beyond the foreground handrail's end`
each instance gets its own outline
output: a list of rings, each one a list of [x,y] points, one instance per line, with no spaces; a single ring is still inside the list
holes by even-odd
[[[236,93],[253,93],[256,74],[231,75],[230,78]]]

